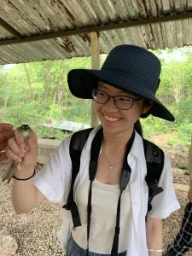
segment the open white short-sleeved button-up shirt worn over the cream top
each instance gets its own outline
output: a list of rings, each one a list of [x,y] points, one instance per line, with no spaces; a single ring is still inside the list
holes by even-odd
[[[100,126],[90,132],[90,136],[84,145],[81,154],[79,174],[74,183],[74,199],[77,201],[77,191],[81,183],[88,176],[90,147],[92,139]],[[59,148],[50,158],[49,163],[35,177],[35,186],[47,197],[49,201],[67,202],[67,196],[71,184],[71,159],[69,156],[69,143],[71,137],[61,143]],[[148,185],[145,182],[147,173],[146,161],[143,151],[143,139],[137,132],[131,151],[127,157],[131,166],[130,196],[131,196],[131,216],[129,226],[130,236],[126,237],[127,256],[146,256],[148,247],[146,241],[145,214],[148,208]],[[174,210],[179,208],[179,204],[172,185],[172,168],[170,160],[165,156],[164,168],[161,173],[159,186],[164,189],[162,193],[154,196],[152,210],[148,215],[152,218],[166,218]],[[59,237],[63,246],[71,234],[72,220],[70,212],[61,209],[63,224],[59,232]]]

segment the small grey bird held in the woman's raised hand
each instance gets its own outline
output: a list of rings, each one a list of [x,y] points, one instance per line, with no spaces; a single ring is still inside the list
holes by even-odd
[[[15,131],[20,132],[20,134],[24,137],[25,140],[33,132],[32,128],[29,125],[20,125],[20,127],[17,127],[15,129]],[[24,153],[26,153],[25,150],[24,150]],[[6,172],[4,173],[4,175],[2,177],[3,181],[7,180],[7,183],[10,182],[10,180],[12,179],[12,177],[14,175],[15,167],[17,166],[17,164],[18,164],[18,162],[14,161],[14,160],[12,160],[9,163],[8,169],[6,170]]]

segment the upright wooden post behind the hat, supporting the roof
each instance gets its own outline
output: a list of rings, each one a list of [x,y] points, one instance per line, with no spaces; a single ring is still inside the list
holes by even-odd
[[[90,44],[91,44],[91,68],[100,68],[100,47],[99,47],[99,34],[97,32],[90,32]],[[91,127],[96,127],[99,124],[99,120],[96,116],[96,112],[91,103]]]

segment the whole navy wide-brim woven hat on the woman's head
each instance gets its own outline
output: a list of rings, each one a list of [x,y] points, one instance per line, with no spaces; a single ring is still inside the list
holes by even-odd
[[[160,84],[160,68],[160,60],[152,52],[122,44],[109,52],[101,70],[73,69],[68,73],[67,82],[73,96],[92,99],[92,90],[102,81],[153,102],[151,114],[174,121],[172,113],[155,96]]]

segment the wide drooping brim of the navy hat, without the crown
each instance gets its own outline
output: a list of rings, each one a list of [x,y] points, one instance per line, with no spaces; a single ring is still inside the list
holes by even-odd
[[[161,119],[174,121],[172,113],[148,90],[148,87],[142,84],[139,80],[130,74],[130,79],[124,79],[119,73],[113,75],[106,70],[95,69],[73,69],[68,73],[67,82],[69,90],[73,96],[77,96],[83,99],[92,99],[92,90],[98,86],[98,81],[102,81],[106,84],[110,84],[120,90],[125,90],[142,96],[143,98],[153,102],[153,107],[150,113]]]

